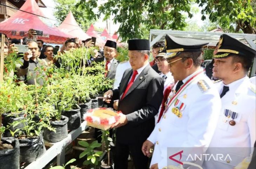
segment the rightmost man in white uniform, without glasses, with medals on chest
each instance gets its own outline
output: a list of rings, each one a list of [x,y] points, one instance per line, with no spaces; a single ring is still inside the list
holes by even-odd
[[[204,161],[203,168],[233,169],[252,153],[256,95],[247,73],[254,57],[254,49],[229,35],[221,35],[218,52],[213,56],[213,76],[222,80],[216,83],[222,107],[207,154],[229,154],[230,159]]]

